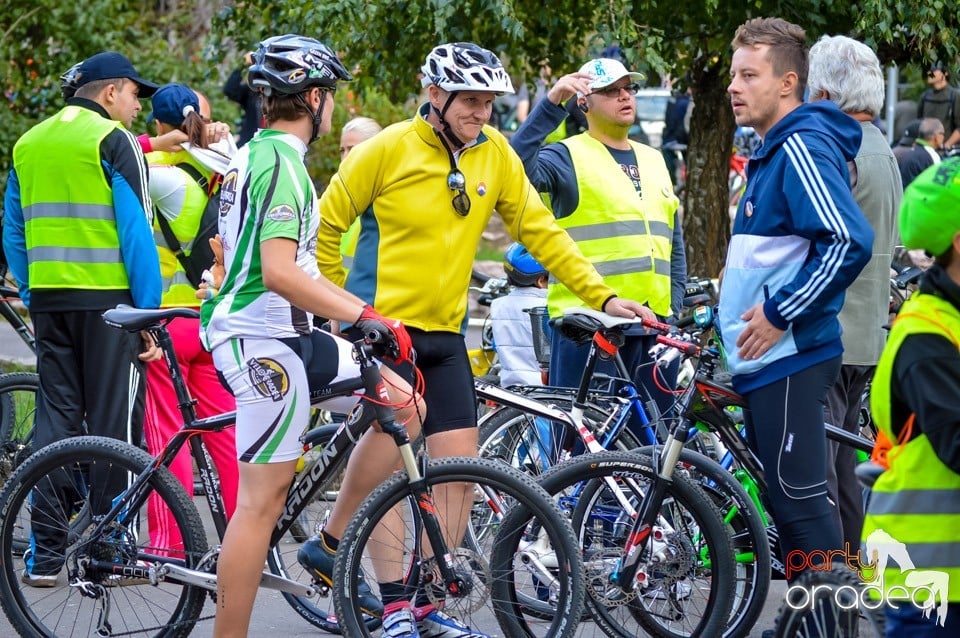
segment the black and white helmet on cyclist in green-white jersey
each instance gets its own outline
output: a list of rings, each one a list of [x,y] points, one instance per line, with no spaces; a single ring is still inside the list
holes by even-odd
[[[296,95],[314,86],[329,89],[340,80],[352,79],[330,47],[295,34],[261,42],[247,72],[247,82],[264,95]]]

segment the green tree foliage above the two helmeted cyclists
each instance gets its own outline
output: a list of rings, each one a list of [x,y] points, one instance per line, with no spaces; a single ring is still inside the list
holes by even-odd
[[[377,87],[396,102],[406,102],[419,94],[420,65],[441,42],[480,43],[500,54],[518,75],[535,72],[544,57],[557,70],[575,69],[596,34],[598,12],[595,5],[576,0],[557,0],[549,11],[522,0],[339,0],[279,5],[247,0],[217,16],[208,51],[216,58],[250,48],[264,34],[312,34],[341,52],[356,69],[360,95]]]

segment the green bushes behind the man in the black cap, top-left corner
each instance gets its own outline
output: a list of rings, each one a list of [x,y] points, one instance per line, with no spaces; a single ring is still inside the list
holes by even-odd
[[[137,72],[159,84],[184,82],[204,92],[215,116],[230,113],[220,87],[225,75],[201,58],[212,5],[223,0],[12,0],[0,4],[0,73],[7,108],[0,109],[0,191],[6,187],[13,145],[31,126],[63,106],[59,76],[94,53],[126,55]],[[182,6],[180,6],[182,5]],[[158,10],[155,7],[162,7]],[[147,132],[144,111],[134,132]],[[153,132],[153,131],[151,131]]]

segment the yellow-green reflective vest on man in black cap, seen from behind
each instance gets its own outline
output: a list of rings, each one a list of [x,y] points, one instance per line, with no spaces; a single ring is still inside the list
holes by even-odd
[[[67,106],[13,148],[30,288],[127,290],[113,191],[100,143],[120,123]],[[64,171],[63,158],[71,158]]]

